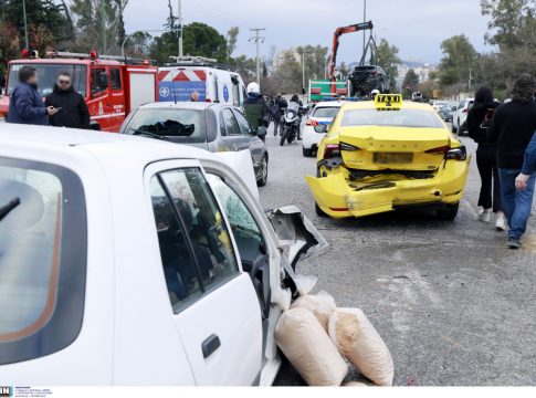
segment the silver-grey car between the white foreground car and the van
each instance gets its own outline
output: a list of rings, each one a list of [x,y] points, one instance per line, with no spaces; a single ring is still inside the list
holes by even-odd
[[[256,184],[266,185],[266,128],[253,130],[240,109],[214,103],[150,103],[139,106],[119,133],[192,145],[212,153],[250,150]]]

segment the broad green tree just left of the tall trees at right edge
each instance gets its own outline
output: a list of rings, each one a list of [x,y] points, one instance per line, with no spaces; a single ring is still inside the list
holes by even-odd
[[[470,73],[477,73],[477,53],[466,35],[460,34],[444,40],[441,50],[444,54],[439,65],[441,86],[469,82]]]

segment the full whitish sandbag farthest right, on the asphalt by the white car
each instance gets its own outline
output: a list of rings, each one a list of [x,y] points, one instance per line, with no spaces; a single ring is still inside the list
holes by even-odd
[[[336,310],[329,318],[329,337],[365,377],[378,386],[392,386],[391,353],[361,310]]]

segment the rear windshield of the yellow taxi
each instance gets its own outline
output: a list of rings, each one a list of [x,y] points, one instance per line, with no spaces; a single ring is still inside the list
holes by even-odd
[[[340,126],[444,128],[435,112],[404,108],[399,111],[348,109],[343,115]]]

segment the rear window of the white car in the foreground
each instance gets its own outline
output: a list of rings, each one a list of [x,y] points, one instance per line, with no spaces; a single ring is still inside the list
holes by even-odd
[[[85,270],[76,175],[0,157],[0,365],[57,352],[76,338]]]

